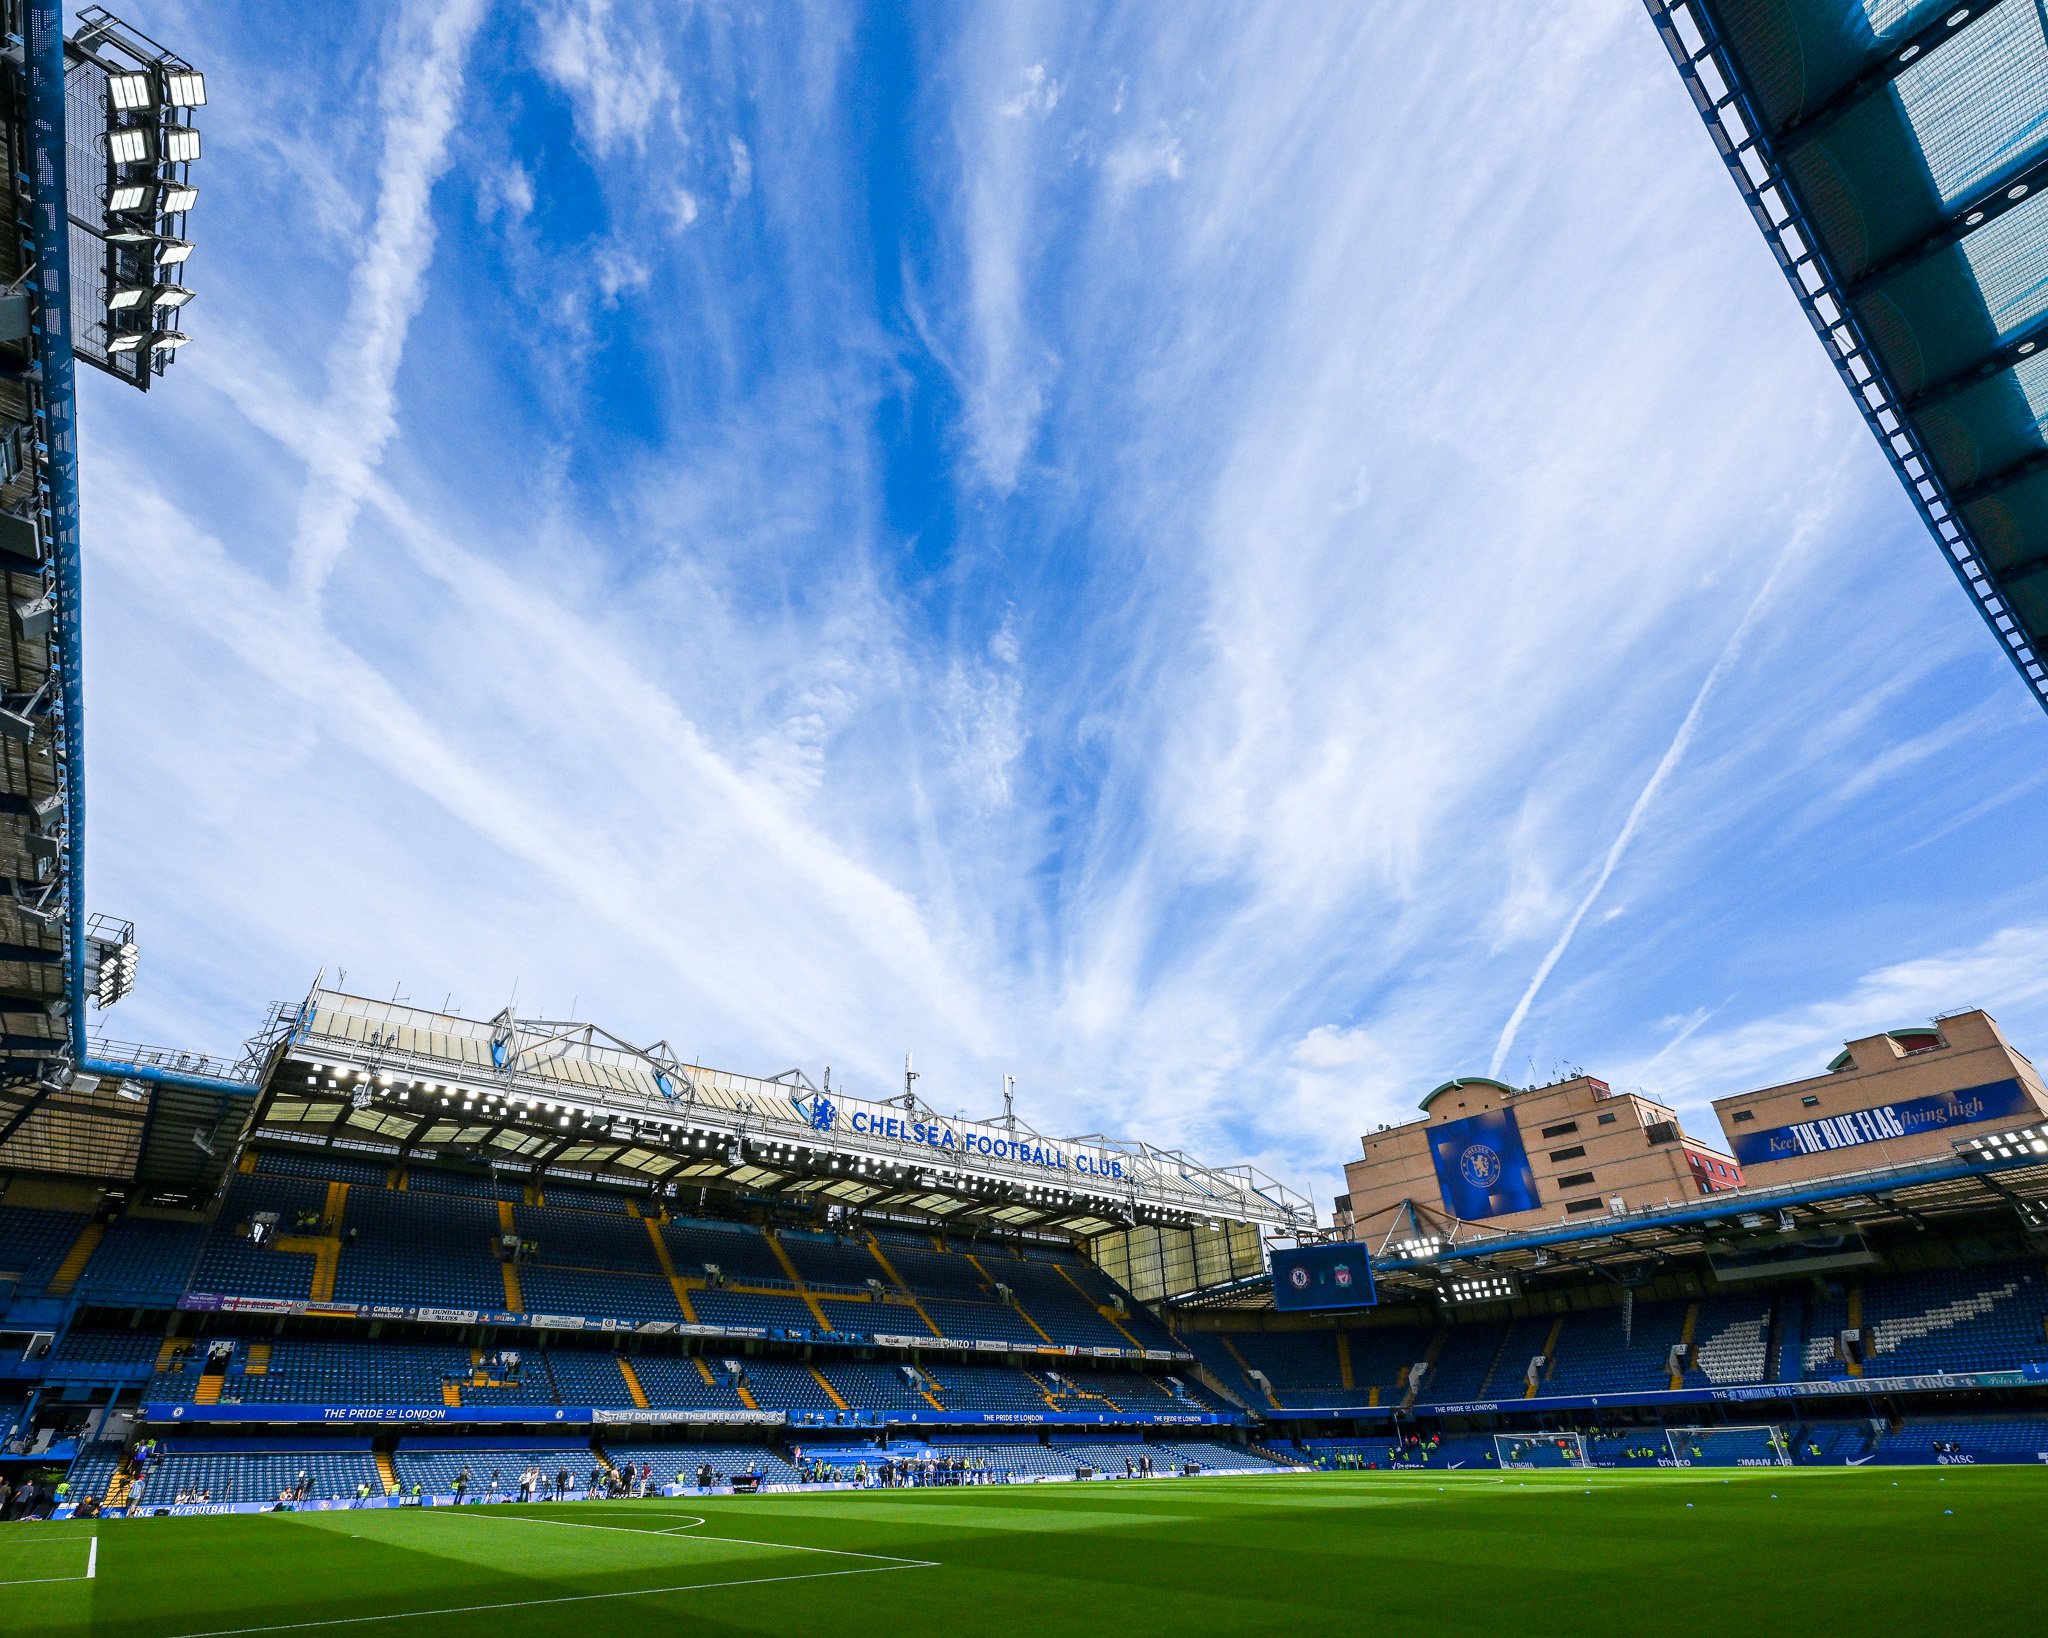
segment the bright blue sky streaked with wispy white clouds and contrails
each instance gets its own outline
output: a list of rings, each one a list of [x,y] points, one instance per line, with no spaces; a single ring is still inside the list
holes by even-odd
[[[2048,1042],[2048,723],[1636,0],[135,0],[121,1038],[317,968],[1253,1159]]]

